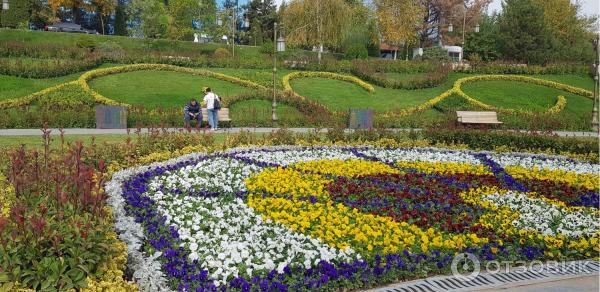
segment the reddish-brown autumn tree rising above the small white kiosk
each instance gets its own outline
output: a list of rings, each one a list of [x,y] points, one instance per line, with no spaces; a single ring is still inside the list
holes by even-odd
[[[482,16],[482,12],[492,2],[491,0],[418,0],[424,13],[419,27],[419,45],[425,47],[441,35],[445,42],[456,43],[462,40],[462,31],[468,32]],[[465,17],[466,16],[466,17]],[[463,22],[465,27],[463,30]],[[448,34],[449,24],[455,28],[455,33]],[[442,31],[440,31],[440,26]]]

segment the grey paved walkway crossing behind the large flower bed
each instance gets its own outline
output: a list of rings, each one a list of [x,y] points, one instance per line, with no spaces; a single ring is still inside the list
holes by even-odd
[[[241,131],[250,131],[254,133],[270,133],[279,128],[226,128],[220,129],[217,133],[239,133]],[[52,130],[52,135],[58,135],[60,132],[58,129],[49,129]],[[130,133],[134,133],[136,129],[129,129]],[[147,133],[147,128],[142,128],[142,133]],[[162,129],[161,129],[162,130]],[[169,132],[177,132],[181,131],[181,128],[167,128]],[[322,133],[326,133],[327,129],[316,129],[316,128],[288,128],[288,130],[296,133],[307,133],[309,131],[319,130]],[[395,132],[408,132],[408,131],[421,131],[422,129],[389,129]],[[64,129],[65,135],[107,135],[107,134],[127,134],[127,129],[85,129],[85,128],[69,128]],[[347,129],[347,132],[351,132],[352,130]],[[527,131],[520,130],[506,130],[506,132],[522,132],[529,133]],[[554,131],[554,132],[534,132],[535,134],[540,135],[556,135],[561,137],[598,137],[598,133],[596,132],[569,132],[569,131]],[[41,135],[42,131],[40,129],[0,129],[0,136],[37,136]]]

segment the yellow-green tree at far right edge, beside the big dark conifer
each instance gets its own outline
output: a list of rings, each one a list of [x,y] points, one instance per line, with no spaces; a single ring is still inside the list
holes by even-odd
[[[591,45],[595,18],[582,17],[581,6],[570,0],[534,0],[543,7],[546,25],[556,36],[557,58],[564,61],[592,61]]]

